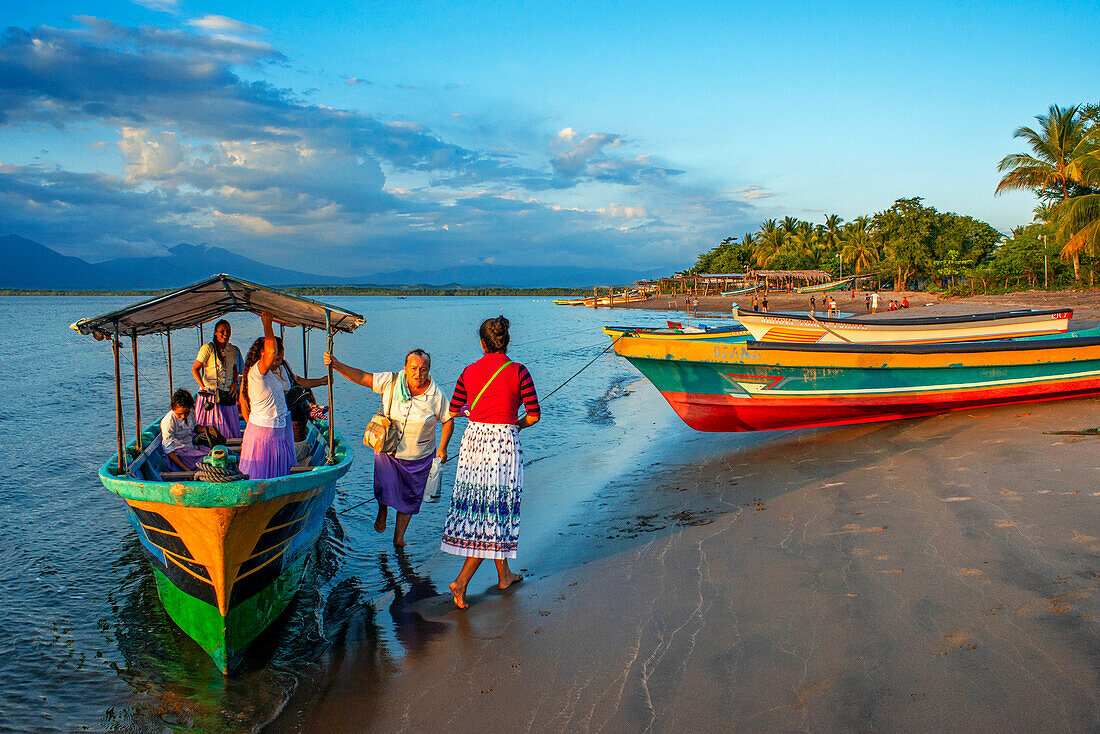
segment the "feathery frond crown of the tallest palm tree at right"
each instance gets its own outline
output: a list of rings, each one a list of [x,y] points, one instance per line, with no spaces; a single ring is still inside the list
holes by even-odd
[[[1035,117],[1038,131],[1018,128],[1013,138],[1026,140],[1032,153],[1013,153],[1001,158],[997,169],[1008,173],[994,195],[1031,189],[1040,198],[1068,199],[1074,163],[1094,147],[1093,141],[1087,140],[1079,110],[1079,107],[1054,105],[1046,116]]]

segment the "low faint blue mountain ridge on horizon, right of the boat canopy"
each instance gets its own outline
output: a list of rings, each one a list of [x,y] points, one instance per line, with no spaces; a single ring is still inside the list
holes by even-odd
[[[506,288],[575,288],[593,285],[620,285],[661,277],[666,271],[635,271],[622,267],[568,267],[518,265],[458,265],[436,271],[402,270],[375,273],[359,282],[373,285],[421,284],[442,286],[461,283],[465,286],[497,286]]]

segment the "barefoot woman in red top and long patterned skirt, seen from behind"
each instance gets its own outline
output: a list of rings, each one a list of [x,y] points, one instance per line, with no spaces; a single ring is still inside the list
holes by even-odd
[[[451,417],[465,413],[470,418],[441,545],[446,552],[465,557],[450,584],[459,609],[470,606],[466,587],[485,558],[496,562],[498,589],[524,578],[508,568],[519,545],[524,491],[519,431],[537,424],[541,409],[527,368],[508,359],[508,326],[503,316],[482,321],[479,337],[485,355],[462,371],[451,397]],[[527,413],[517,419],[520,405]]]

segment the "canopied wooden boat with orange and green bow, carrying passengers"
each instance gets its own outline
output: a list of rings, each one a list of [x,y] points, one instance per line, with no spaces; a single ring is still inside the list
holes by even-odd
[[[158,423],[123,448],[119,342],[124,336],[134,342],[134,414],[141,426],[138,337],[168,336],[170,394],[172,331],[231,311],[264,310],[304,330],[327,329],[330,351],[334,332],[363,324],[356,314],[218,275],[73,325],[80,333],[109,339],[114,349],[119,450],[100,468],[99,479],[125,502],[168,616],[222,672],[231,671],[249,644],[283,613],[307,576],[324,513],[337,480],[351,467],[352,452],[329,423],[312,421],[310,465],[294,468],[289,476],[202,482],[194,480],[194,472],[167,471]],[[331,371],[329,384],[331,420]]]

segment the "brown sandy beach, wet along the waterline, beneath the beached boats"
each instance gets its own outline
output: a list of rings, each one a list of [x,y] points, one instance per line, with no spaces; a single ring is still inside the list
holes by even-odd
[[[405,569],[400,644],[353,625],[270,731],[1100,726],[1100,439],[1044,434],[1100,401],[705,435],[631,387],[650,448],[571,522],[525,504],[527,580],[459,612],[453,559]]]

